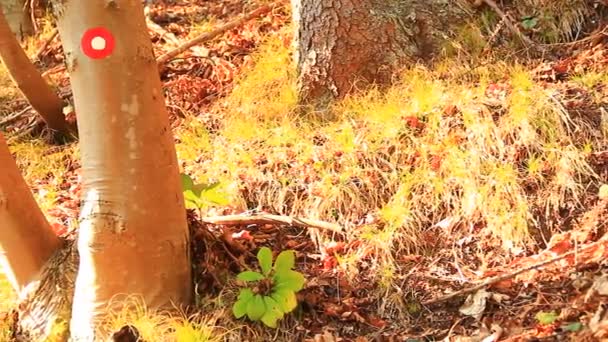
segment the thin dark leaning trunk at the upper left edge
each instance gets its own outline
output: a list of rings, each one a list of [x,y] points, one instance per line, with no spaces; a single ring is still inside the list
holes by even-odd
[[[63,101],[53,92],[29,60],[11,32],[1,10],[0,58],[21,93],[47,126],[62,135],[72,133],[73,127],[70,127],[63,115]]]

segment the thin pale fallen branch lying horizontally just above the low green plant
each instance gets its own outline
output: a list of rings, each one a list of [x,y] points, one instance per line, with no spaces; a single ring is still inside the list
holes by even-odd
[[[318,228],[330,230],[335,233],[342,233],[342,227],[335,223],[329,223],[319,220],[295,218],[290,216],[279,215],[228,215],[228,216],[213,216],[205,217],[201,221],[208,224],[223,224],[223,225],[248,225],[248,224],[286,224],[295,227],[303,228]]]

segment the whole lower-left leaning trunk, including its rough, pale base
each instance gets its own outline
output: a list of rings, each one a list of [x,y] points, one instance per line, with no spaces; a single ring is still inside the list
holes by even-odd
[[[19,327],[29,341],[61,338],[77,255],[51,230],[2,135],[0,170],[0,267],[19,294]]]

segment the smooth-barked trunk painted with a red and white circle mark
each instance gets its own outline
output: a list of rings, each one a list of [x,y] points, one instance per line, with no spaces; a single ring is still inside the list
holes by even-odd
[[[150,308],[191,302],[189,233],[141,2],[58,0],[54,7],[83,170],[70,329],[75,340],[92,341],[103,336],[105,310],[116,295],[139,295]],[[81,46],[98,27],[114,37],[113,50],[108,36]],[[91,47],[108,55],[93,59]]]

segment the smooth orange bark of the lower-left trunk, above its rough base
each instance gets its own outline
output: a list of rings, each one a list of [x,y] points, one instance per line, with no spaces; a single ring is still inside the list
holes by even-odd
[[[59,247],[0,134],[0,262],[20,292]]]

